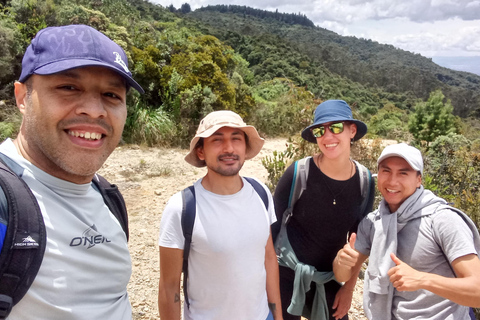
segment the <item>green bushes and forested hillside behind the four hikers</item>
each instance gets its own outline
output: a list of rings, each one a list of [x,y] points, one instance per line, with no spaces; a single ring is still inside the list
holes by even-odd
[[[176,9],[146,0],[2,1],[0,138],[14,137],[20,125],[13,83],[31,38],[46,26],[71,23],[118,42],[146,91],[128,96],[127,143],[186,146],[204,115],[234,110],[263,136],[293,136],[287,151],[263,161],[274,190],[286,166],[315,152],[298,134],[316,105],[343,99],[368,124],[367,138],[428,147],[425,185],[479,223],[480,77],[341,37],[301,14],[232,5],[191,12],[187,3]],[[352,151],[373,172],[379,141],[359,142]]]

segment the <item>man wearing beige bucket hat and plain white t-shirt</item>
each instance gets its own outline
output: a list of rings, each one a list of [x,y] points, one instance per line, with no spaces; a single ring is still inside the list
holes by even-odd
[[[189,252],[184,319],[283,319],[270,232],[276,220],[272,196],[263,183],[239,174],[263,143],[232,111],[214,111],[200,122],[185,157],[195,167],[207,167],[192,187],[191,243],[182,229],[188,207],[182,192],[168,201],[160,223],[161,319],[180,319],[184,250]]]

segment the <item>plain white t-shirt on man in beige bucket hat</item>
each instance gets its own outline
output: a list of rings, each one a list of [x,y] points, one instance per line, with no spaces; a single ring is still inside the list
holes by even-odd
[[[270,191],[268,212],[252,185],[218,195],[195,182],[196,217],[188,258],[185,319],[264,320],[268,315],[265,246],[276,221]],[[159,245],[183,249],[182,196],[168,201],[160,223]]]

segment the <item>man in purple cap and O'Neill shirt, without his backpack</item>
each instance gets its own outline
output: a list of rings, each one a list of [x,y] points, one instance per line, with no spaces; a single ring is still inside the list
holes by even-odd
[[[47,245],[8,319],[132,318],[126,234],[91,183],[121,139],[129,87],[143,92],[125,52],[91,27],[46,28],[27,48],[15,83],[20,132],[0,152],[23,170]]]

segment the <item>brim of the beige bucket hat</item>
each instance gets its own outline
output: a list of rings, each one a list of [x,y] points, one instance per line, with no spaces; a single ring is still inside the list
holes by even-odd
[[[206,163],[203,160],[200,160],[197,156],[197,151],[195,150],[195,146],[197,145],[198,140],[200,138],[208,138],[212,134],[214,134],[218,129],[223,127],[230,127],[230,128],[239,128],[248,136],[248,145],[247,145],[247,152],[245,153],[245,160],[249,160],[254,158],[263,148],[263,144],[265,140],[260,137],[258,134],[257,129],[253,126],[235,126],[235,125],[215,125],[211,128],[205,130],[204,132],[195,135],[195,137],[190,141],[190,151],[185,156],[185,161],[187,161],[192,166],[201,168],[205,167]]]

